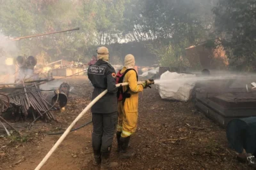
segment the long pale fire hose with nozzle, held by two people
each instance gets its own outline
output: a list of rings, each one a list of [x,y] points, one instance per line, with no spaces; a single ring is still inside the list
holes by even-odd
[[[154,81],[138,81],[138,84],[143,84],[143,83],[150,83],[150,84],[154,84]],[[119,83],[116,85],[116,87],[120,87],[120,86],[127,86],[128,83]],[[44,159],[40,162],[40,164],[38,164],[38,166],[35,168],[35,170],[39,170],[41,169],[42,166],[44,166],[45,162],[49,159],[49,157],[51,157],[52,153],[56,150],[56,148],[58,148],[58,146],[60,146],[61,142],[67,137],[68,133],[71,131],[72,127],[74,127],[74,125],[76,125],[76,123],[78,122],[78,120],[80,118],[83,117],[83,115],[90,109],[92,108],[93,104],[95,104],[97,101],[99,101],[99,99],[101,97],[103,97],[105,94],[108,93],[108,90],[104,90],[101,94],[99,94],[99,96],[97,96],[95,99],[93,99],[93,101],[88,104],[88,106],[86,106],[86,108],[84,108],[84,110],[76,117],[76,119],[72,122],[72,124],[69,125],[69,127],[66,129],[66,131],[61,135],[61,137],[58,139],[58,141],[54,144],[54,146],[52,146],[51,150],[47,153],[47,155],[45,155]]]

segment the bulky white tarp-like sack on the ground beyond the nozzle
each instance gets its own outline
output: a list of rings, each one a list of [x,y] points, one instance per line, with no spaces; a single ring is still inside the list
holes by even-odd
[[[159,94],[161,98],[188,101],[195,87],[196,81],[193,80],[195,77],[195,74],[178,74],[166,71],[161,75],[159,81]],[[186,80],[186,78],[189,80]]]

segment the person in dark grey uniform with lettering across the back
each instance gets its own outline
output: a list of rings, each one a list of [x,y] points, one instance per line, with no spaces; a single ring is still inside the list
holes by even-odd
[[[94,87],[92,99],[108,89],[108,93],[92,106],[93,165],[98,166],[101,163],[101,169],[113,169],[118,166],[116,162],[109,161],[118,118],[118,103],[116,73],[108,60],[108,48],[102,46],[97,49],[97,62],[88,68],[88,78]]]

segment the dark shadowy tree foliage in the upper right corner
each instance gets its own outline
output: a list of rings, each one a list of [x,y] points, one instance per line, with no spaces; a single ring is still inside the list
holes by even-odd
[[[220,0],[215,25],[236,70],[256,71],[256,1]]]

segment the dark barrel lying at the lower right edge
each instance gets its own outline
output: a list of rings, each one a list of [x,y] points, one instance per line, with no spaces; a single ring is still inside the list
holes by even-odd
[[[256,117],[231,120],[227,125],[227,139],[230,148],[242,153],[256,155]]]

